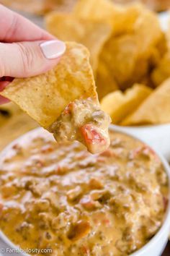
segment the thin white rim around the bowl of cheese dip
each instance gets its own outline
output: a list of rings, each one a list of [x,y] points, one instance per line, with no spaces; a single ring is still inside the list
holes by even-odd
[[[109,129],[112,130],[113,132],[121,132],[121,133],[124,133],[125,135],[128,135],[130,137],[133,137],[134,139],[136,140],[139,140],[140,142],[143,142],[143,140],[140,140],[140,138],[138,138],[137,136],[135,135],[131,135],[130,132],[128,131],[124,131],[121,129],[121,127],[119,126],[116,126],[116,125],[113,125],[113,124],[110,124],[109,126]],[[21,135],[19,137],[17,137],[17,139],[13,140],[12,142],[10,142],[8,145],[6,145],[6,147],[1,150],[0,152],[0,158],[3,157],[3,155],[5,155],[6,151],[12,147],[13,144],[15,144],[16,142],[18,142],[19,140],[22,140],[24,137],[27,137],[29,135],[34,135],[36,134],[38,131],[40,132],[46,132],[42,127],[37,127],[35,129],[32,129],[30,132],[26,132],[24,133],[24,135]],[[148,145],[146,142],[143,142],[144,144]],[[150,148],[152,148],[151,146],[149,146]],[[153,149],[154,152],[156,153],[156,155],[158,155],[158,158],[160,158],[161,160],[161,163],[163,163],[163,166],[164,166],[164,169],[166,171],[166,174],[168,176],[168,179],[169,179],[169,203],[168,203],[168,206],[166,208],[166,214],[165,214],[165,217],[164,217],[164,222],[163,224],[161,225],[161,228],[158,230],[158,232],[148,241],[147,244],[143,245],[143,247],[141,247],[140,249],[138,249],[137,251],[133,252],[132,254],[130,254],[129,256],[140,256],[143,254],[143,252],[146,251],[146,249],[148,249],[148,247],[151,247],[153,244],[155,244],[156,242],[158,242],[158,240],[160,239],[161,235],[164,234],[164,231],[165,229],[167,228],[167,226],[169,226],[169,230],[170,230],[170,166],[169,166],[169,163],[166,161],[166,159],[164,158],[164,156],[158,152],[158,150],[155,150]],[[19,253],[19,255],[22,255],[22,256],[30,256],[28,255],[27,253],[23,252],[22,251],[22,248],[17,246],[16,244],[14,244],[9,238],[8,236],[6,236],[4,234],[3,231],[0,230],[0,239],[6,244],[6,246],[9,246],[11,247],[12,249],[15,249],[16,252],[17,250],[21,251]],[[168,240],[168,238],[167,238]],[[0,254],[1,255],[1,254]]]

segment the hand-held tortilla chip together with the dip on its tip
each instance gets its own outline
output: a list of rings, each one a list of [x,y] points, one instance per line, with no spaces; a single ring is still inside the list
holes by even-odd
[[[89,51],[78,43],[66,43],[57,67],[15,79],[1,95],[53,132],[56,140],[79,140],[91,153],[109,146],[110,118],[99,108]]]

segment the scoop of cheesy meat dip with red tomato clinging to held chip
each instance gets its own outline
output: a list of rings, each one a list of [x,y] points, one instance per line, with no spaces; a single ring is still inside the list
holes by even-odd
[[[58,142],[78,140],[91,153],[102,153],[109,147],[108,114],[100,109],[97,99],[80,99],[69,103],[50,127]]]

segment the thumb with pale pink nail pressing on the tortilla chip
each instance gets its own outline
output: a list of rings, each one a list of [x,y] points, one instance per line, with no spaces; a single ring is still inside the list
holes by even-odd
[[[61,40],[0,43],[0,77],[32,77],[48,71],[66,50]]]

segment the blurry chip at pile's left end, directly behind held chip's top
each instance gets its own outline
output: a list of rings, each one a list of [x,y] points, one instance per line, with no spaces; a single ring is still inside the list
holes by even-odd
[[[51,12],[45,18],[47,30],[61,40],[82,43],[90,51],[93,70],[97,69],[99,53],[111,35],[111,27],[104,22],[82,20],[71,14]]]

